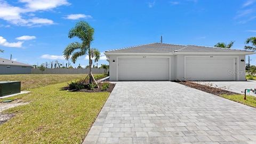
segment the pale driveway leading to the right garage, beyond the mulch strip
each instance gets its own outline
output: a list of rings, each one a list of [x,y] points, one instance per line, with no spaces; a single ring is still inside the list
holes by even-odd
[[[256,81],[252,81],[252,80],[248,80],[248,81],[227,81],[227,82],[197,82],[197,83],[206,84],[206,85],[213,84],[213,86],[217,85],[221,89],[223,89],[223,87],[226,86],[226,87],[229,88],[229,89],[226,89],[226,90],[236,92],[236,93],[241,93],[241,94],[244,94],[244,93],[242,93],[242,91],[244,92],[245,89],[256,89]],[[256,94],[254,94],[253,92],[246,93],[246,94],[256,96]]]

